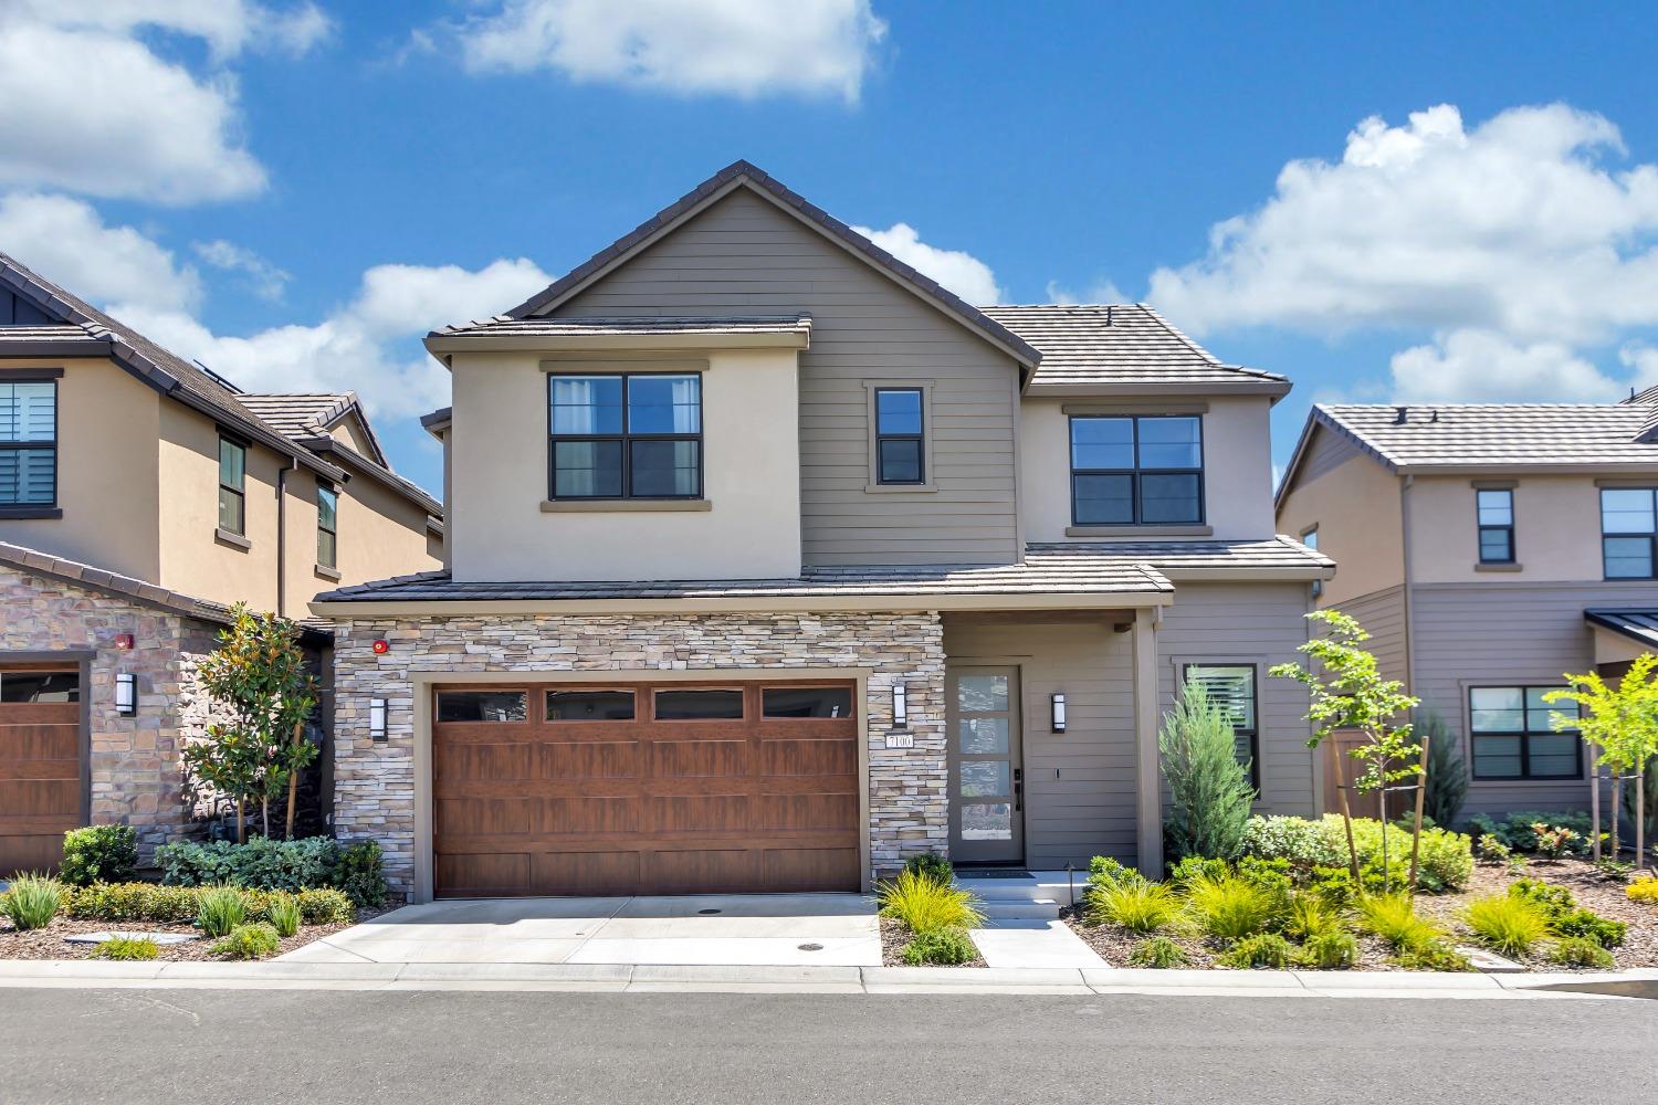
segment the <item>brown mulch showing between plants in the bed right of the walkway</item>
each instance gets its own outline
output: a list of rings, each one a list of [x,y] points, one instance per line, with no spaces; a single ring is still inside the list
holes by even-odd
[[[1562,860],[1559,863],[1532,860],[1524,871],[1509,871],[1507,866],[1479,863],[1474,866],[1474,876],[1469,880],[1467,888],[1449,895],[1421,895],[1416,900],[1416,908],[1421,914],[1442,921],[1451,929],[1452,943],[1477,946],[1459,914],[1476,898],[1507,893],[1509,883],[1517,878],[1537,878],[1545,883],[1567,886],[1577,896],[1577,905],[1593,910],[1605,918],[1623,921],[1628,926],[1625,943],[1622,948],[1610,949],[1618,969],[1658,967],[1658,908],[1630,901],[1628,895],[1623,893],[1625,883],[1600,875],[1583,860]],[[1059,916],[1083,943],[1099,953],[1099,958],[1114,967],[1129,966],[1129,954],[1134,951],[1134,946],[1146,939],[1116,924],[1091,924],[1079,908],[1061,910]],[[1222,949],[1212,941],[1174,931],[1161,934],[1180,944],[1190,959],[1185,964],[1187,967],[1234,969],[1215,961],[1215,956]],[[1381,941],[1363,933],[1358,933],[1356,938],[1360,956],[1353,966],[1355,971],[1403,971],[1403,967],[1388,963],[1391,953]],[[1529,971],[1573,971],[1573,967],[1562,967],[1550,963],[1547,949],[1542,954],[1527,956],[1519,963]]]

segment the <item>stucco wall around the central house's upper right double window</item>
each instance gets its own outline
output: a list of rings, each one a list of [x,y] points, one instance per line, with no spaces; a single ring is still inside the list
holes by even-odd
[[[1030,399],[1020,406],[1020,495],[1025,537],[1033,542],[1068,540],[1071,525],[1071,442],[1064,408],[1108,411],[1109,401]],[[1202,403],[1204,524],[1214,537],[1250,540],[1273,532],[1270,399],[1215,396]],[[1131,408],[1124,404],[1124,411]],[[1171,411],[1190,411],[1190,403],[1169,403]],[[1134,401],[1132,411],[1156,414],[1151,399]],[[1089,540],[1086,535],[1074,540]]]

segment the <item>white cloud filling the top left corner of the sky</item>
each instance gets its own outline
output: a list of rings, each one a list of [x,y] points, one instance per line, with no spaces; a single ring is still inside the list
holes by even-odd
[[[191,204],[252,195],[235,75],[245,50],[303,53],[328,31],[312,3],[5,0],[0,3],[0,184]],[[207,73],[148,35],[201,40]]]

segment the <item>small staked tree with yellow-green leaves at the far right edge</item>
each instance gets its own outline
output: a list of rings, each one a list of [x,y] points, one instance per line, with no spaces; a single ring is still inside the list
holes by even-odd
[[[1612,858],[1618,858],[1622,842],[1618,838],[1618,807],[1623,805],[1623,782],[1626,779],[1641,780],[1646,762],[1658,755],[1658,656],[1643,653],[1630,661],[1630,669],[1618,679],[1618,686],[1607,686],[1598,673],[1573,676],[1567,674],[1570,684],[1565,691],[1549,691],[1544,701],[1577,702],[1577,716],[1550,714],[1550,724],[1557,732],[1575,731],[1588,746],[1590,764],[1595,777],[1597,815],[1595,828],[1590,833],[1595,852],[1600,852],[1600,769],[1612,772]],[[1645,785],[1635,789],[1635,865],[1646,861],[1645,833]]]

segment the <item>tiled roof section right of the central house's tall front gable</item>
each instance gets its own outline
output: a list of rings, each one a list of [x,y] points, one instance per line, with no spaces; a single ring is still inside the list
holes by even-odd
[[[1114,386],[1217,391],[1290,391],[1287,376],[1225,364],[1146,303],[1033,303],[987,306],[987,315],[1041,351],[1030,381],[1043,389],[1109,391]]]

